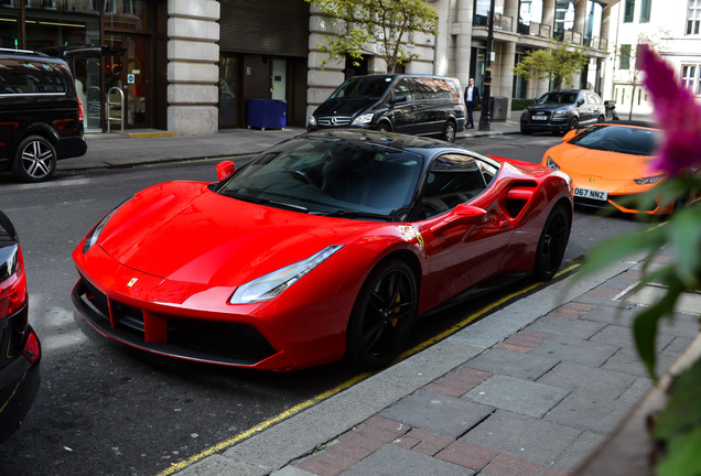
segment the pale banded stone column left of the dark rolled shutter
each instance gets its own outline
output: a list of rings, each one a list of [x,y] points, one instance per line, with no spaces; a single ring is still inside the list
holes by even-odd
[[[219,123],[219,2],[168,1],[168,130],[205,134]]]

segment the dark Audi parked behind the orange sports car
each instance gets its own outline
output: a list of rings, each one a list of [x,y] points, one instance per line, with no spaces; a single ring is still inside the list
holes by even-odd
[[[581,126],[603,122],[606,107],[596,93],[556,90],[546,93],[521,113],[521,133],[564,133]]]

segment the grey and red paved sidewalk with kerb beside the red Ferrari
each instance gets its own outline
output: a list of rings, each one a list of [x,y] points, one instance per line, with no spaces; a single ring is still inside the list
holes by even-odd
[[[639,269],[554,282],[177,475],[572,475],[651,386],[630,331]],[[699,309],[660,329],[660,369]]]

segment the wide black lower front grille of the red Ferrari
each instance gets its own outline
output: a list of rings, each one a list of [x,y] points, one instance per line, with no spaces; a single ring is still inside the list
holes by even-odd
[[[85,318],[103,333],[143,349],[239,365],[252,365],[276,354],[266,337],[250,325],[164,314],[159,317],[168,321],[168,342],[147,343],[143,310],[108,299],[85,278],[76,284],[73,299]]]

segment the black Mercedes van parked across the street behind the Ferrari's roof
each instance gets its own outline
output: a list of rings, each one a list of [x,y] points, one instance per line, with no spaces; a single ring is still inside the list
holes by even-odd
[[[310,117],[306,129],[363,128],[453,142],[465,128],[462,88],[455,78],[385,74],[354,76]]]

